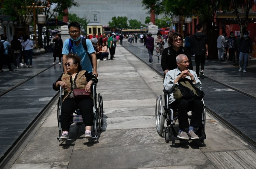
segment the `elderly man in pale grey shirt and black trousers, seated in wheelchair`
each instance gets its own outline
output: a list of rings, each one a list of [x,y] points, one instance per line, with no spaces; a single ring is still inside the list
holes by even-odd
[[[179,132],[176,135],[178,138],[184,139],[184,140],[189,140],[189,138],[199,139],[199,136],[194,132],[194,128],[204,128],[203,126],[204,124],[202,121],[204,121],[203,118],[205,114],[203,114],[204,103],[202,101],[202,98],[201,99],[186,99],[185,97],[175,98],[174,93],[175,93],[175,90],[178,89],[177,85],[180,84],[179,82],[181,80],[184,80],[185,78],[186,78],[185,79],[186,81],[191,80],[190,84],[194,85],[198,89],[201,89],[202,83],[197,78],[196,72],[192,70],[188,70],[189,60],[186,55],[184,54],[178,55],[176,57],[176,63],[177,63],[177,68],[167,72],[164,79],[164,83],[163,83],[165,92],[167,93],[167,96],[169,95],[169,98],[167,97],[169,102],[168,106],[170,106],[173,110],[177,110],[178,112],[177,118],[179,120]],[[192,115],[188,116],[188,112],[190,110],[192,110]],[[203,114],[203,118],[202,118],[202,114]],[[189,125],[188,117],[190,118],[190,125]],[[188,130],[187,132],[186,132],[186,129]],[[204,129],[203,129],[203,132],[204,132]],[[169,133],[168,132],[166,133],[168,134],[167,139],[169,139]]]

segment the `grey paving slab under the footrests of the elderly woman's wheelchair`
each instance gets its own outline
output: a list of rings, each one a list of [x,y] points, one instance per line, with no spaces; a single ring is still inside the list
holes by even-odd
[[[70,138],[76,138],[78,129],[79,126],[75,125],[70,128]],[[15,164],[65,162],[70,158],[75,141],[59,142],[58,136],[58,127],[40,128],[19,155]]]

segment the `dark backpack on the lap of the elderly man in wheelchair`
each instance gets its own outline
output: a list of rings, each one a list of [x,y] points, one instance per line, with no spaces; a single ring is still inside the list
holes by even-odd
[[[173,97],[175,99],[184,98],[188,101],[194,101],[203,98],[204,92],[195,87],[190,79],[180,79],[178,84],[174,87]]]

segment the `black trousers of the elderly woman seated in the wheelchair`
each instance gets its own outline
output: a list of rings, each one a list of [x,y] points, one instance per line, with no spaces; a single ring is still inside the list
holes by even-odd
[[[63,101],[60,113],[62,131],[69,131],[72,114],[79,109],[85,126],[93,126],[93,99],[92,98],[67,98]]]

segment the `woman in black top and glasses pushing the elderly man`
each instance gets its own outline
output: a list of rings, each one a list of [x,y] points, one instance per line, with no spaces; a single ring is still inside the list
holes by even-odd
[[[182,36],[179,33],[173,33],[169,35],[168,44],[170,46],[163,50],[161,58],[161,67],[164,76],[169,70],[177,68],[176,56],[178,56],[179,54],[185,54],[188,57],[190,62],[188,69],[193,70],[190,52],[188,51],[187,48],[183,47],[182,41]]]

